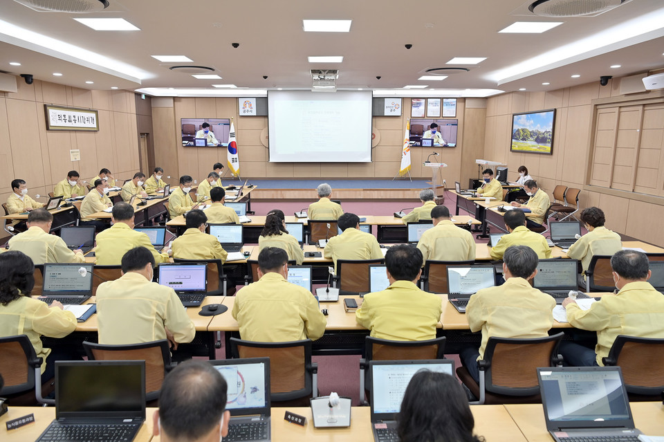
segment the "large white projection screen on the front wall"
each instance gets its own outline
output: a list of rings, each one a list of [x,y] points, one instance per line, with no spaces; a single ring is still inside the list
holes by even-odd
[[[370,163],[371,91],[268,91],[270,163]]]

